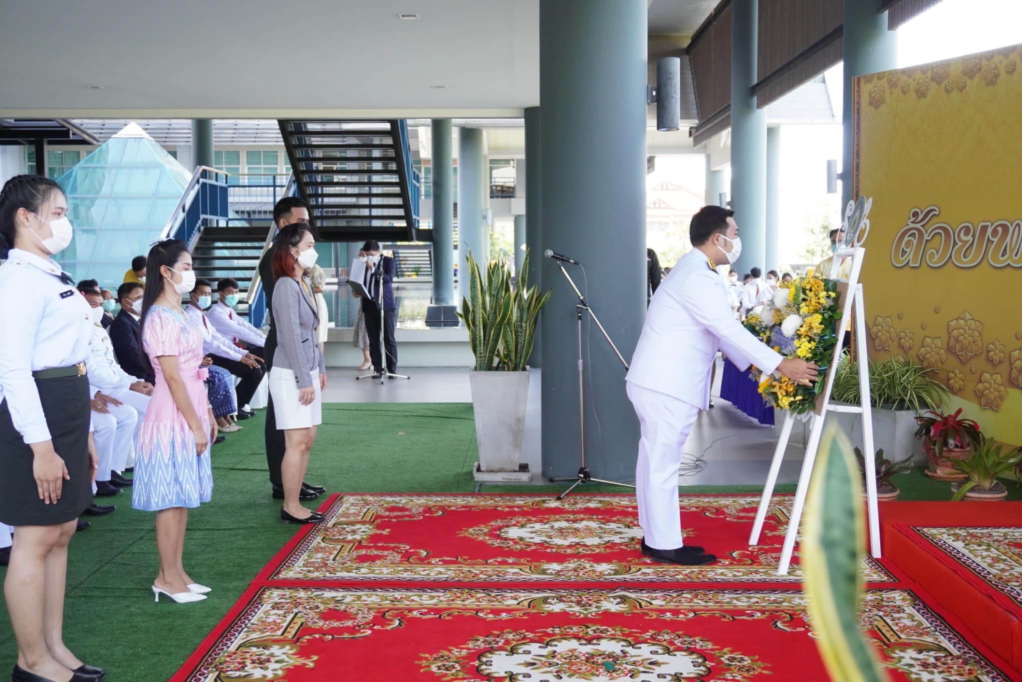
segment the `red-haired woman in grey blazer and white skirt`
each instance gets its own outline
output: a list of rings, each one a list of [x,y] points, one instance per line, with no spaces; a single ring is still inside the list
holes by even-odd
[[[277,350],[270,370],[270,394],[277,428],[284,431],[282,520],[318,524],[323,516],[301,506],[301,482],[316,429],[323,422],[321,393],[326,389],[326,365],[320,350],[320,325],[313,287],[304,273],[316,265],[316,241],[308,223],[281,228],[273,246],[273,319]]]

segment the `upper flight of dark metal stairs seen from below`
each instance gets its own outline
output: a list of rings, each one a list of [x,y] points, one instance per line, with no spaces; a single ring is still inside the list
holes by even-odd
[[[419,177],[403,120],[280,121],[321,241],[423,241]]]

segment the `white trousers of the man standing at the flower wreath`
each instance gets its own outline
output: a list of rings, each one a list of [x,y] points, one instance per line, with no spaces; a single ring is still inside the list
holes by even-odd
[[[636,463],[639,525],[647,545],[676,549],[683,546],[678,470],[699,408],[631,381],[628,394],[642,426]]]

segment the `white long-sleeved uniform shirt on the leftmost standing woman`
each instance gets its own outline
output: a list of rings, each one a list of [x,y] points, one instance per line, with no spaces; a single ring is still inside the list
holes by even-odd
[[[89,302],[51,260],[12,248],[0,266],[0,400],[28,444],[50,440],[32,372],[89,359]]]

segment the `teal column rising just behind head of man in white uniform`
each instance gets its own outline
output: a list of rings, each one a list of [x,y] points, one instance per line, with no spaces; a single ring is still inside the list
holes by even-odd
[[[766,111],[756,108],[758,0],[731,4],[731,208],[741,228],[739,272],[766,260]]]

